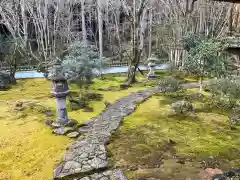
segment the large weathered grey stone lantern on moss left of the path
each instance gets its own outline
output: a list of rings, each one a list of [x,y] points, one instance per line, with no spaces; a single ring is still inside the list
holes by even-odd
[[[52,67],[50,73],[50,79],[52,80],[52,95],[56,98],[57,103],[57,120],[53,126],[66,126],[70,123],[67,115],[66,98],[70,94],[68,83],[64,77],[63,67],[61,61],[57,59]]]

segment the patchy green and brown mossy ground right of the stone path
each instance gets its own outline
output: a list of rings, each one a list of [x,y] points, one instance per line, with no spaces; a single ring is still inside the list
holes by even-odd
[[[226,112],[207,111],[195,101],[196,117],[176,117],[170,104],[177,98],[152,97],[112,138],[112,166],[130,180],[196,179],[205,167],[240,168],[240,129],[230,129]]]

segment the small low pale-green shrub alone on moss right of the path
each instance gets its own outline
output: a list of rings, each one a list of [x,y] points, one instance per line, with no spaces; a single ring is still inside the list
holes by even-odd
[[[174,102],[171,106],[177,115],[185,115],[186,113],[195,111],[193,105],[190,102],[184,100]]]

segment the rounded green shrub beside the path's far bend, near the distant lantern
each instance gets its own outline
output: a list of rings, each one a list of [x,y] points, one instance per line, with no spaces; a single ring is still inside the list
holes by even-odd
[[[166,76],[163,79],[161,79],[158,82],[158,87],[163,92],[167,92],[167,91],[176,92],[181,89],[180,82],[171,76]]]

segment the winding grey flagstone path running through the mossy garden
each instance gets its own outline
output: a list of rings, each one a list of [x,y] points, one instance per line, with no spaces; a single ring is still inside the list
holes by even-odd
[[[196,83],[184,86],[195,87],[198,87]],[[124,117],[133,113],[138,104],[157,92],[160,92],[159,88],[149,88],[123,97],[80,127],[78,132],[81,136],[67,149],[62,163],[54,170],[54,179],[126,180],[121,170],[108,169],[105,146]]]

